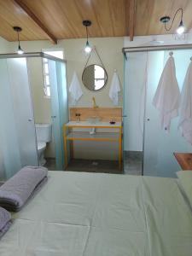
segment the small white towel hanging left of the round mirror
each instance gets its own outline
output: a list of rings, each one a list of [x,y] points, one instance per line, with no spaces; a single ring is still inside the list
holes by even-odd
[[[69,92],[72,99],[72,106],[75,106],[77,102],[79,101],[80,97],[83,95],[83,91],[81,90],[81,86],[79,84],[79,79],[77,76],[77,73],[73,73],[73,79],[69,86]]]

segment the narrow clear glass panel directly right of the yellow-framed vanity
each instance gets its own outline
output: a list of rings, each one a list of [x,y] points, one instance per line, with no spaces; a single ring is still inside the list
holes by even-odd
[[[128,53],[124,79],[124,172],[143,171],[143,114],[147,53]]]

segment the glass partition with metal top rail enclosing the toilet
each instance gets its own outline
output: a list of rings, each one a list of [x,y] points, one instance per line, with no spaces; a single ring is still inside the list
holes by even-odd
[[[22,166],[38,166],[27,58],[47,58],[51,90],[56,169],[63,170],[62,125],[68,121],[66,63],[42,52],[0,55],[0,180]]]

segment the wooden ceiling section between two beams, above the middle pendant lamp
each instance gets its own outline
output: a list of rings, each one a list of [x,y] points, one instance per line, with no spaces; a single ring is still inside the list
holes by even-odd
[[[56,38],[84,38],[82,20],[91,20],[90,37],[125,35],[125,0],[22,0]]]

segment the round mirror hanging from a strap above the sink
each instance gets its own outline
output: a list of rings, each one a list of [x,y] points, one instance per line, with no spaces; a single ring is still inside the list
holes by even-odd
[[[96,64],[84,68],[82,81],[89,90],[101,90],[107,83],[108,74],[106,70]]]

